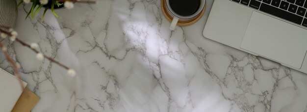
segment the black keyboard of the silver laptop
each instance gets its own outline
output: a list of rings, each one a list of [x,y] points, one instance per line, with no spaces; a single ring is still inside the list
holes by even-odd
[[[232,0],[232,1],[307,27],[306,0]]]

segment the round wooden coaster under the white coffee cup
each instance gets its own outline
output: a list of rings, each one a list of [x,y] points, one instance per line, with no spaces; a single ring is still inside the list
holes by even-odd
[[[165,17],[168,21],[172,22],[172,21],[173,21],[173,17],[168,13],[168,11],[167,11],[166,8],[167,8],[167,7],[166,7],[166,2],[165,2],[165,0],[161,0],[161,9],[162,9],[162,13],[163,13],[164,17]],[[178,23],[177,23],[177,25],[178,25],[178,26],[188,26],[188,25],[191,25],[191,24],[197,22],[199,19],[201,19],[201,18],[203,17],[203,15],[204,15],[204,13],[205,13],[205,8],[206,8],[206,4],[205,4],[205,6],[204,6],[204,9],[202,10],[202,12],[201,12],[198,16],[196,16],[196,17],[194,17],[194,18],[192,18],[192,19],[188,19],[188,20],[179,20]]]

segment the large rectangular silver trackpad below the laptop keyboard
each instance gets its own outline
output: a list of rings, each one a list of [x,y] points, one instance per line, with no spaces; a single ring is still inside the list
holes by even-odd
[[[254,11],[241,48],[300,69],[307,52],[307,30]]]

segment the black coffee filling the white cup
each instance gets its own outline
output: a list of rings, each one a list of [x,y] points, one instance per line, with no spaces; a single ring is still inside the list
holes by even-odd
[[[180,16],[191,16],[197,12],[201,0],[169,0],[172,10]]]

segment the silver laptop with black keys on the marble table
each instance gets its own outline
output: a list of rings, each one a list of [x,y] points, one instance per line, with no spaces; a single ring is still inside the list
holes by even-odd
[[[204,36],[307,73],[305,1],[214,0]]]

